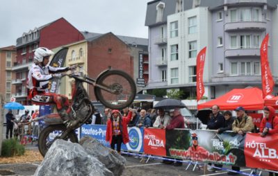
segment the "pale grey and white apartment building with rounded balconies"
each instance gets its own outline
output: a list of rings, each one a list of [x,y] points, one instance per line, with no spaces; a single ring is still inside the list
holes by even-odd
[[[149,82],[145,89],[179,89],[196,97],[196,57],[207,46],[208,99],[234,88],[261,88],[260,45],[269,33],[269,62],[277,80],[278,1],[161,0],[147,3]],[[277,87],[275,92],[277,93]]]

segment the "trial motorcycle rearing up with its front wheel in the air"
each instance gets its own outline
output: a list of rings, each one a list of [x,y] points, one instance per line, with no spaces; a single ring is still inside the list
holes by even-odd
[[[73,78],[72,83],[72,103],[70,118],[76,123],[74,125],[65,125],[60,115],[49,114],[36,118],[36,120],[44,120],[47,127],[44,127],[38,138],[38,148],[42,156],[47,153],[50,146],[56,139],[70,140],[78,143],[75,130],[90,120],[95,112],[88,92],[83,83],[94,86],[95,97],[105,107],[111,109],[123,109],[133,103],[136,96],[136,85],[127,73],[115,69],[107,69],[99,74],[97,79],[83,75],[83,73],[67,73],[65,76]]]

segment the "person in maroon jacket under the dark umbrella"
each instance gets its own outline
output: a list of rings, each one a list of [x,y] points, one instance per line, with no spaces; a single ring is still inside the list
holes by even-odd
[[[185,128],[184,127],[184,119],[181,115],[181,109],[175,108],[170,110],[170,116],[172,117],[170,124],[166,127],[163,127],[163,129],[166,130],[174,130],[174,128]],[[174,166],[182,166],[182,159],[176,159],[176,162],[174,163]],[[172,162],[169,162],[171,164]]]

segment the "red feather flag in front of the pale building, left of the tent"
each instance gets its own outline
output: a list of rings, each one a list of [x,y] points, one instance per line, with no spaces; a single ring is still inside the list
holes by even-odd
[[[204,73],[204,60],[206,58],[206,47],[199,51],[197,55],[197,101],[201,100],[204,95],[204,82],[203,82],[203,73]]]

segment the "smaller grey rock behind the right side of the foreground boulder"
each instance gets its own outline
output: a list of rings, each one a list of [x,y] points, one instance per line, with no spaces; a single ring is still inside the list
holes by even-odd
[[[115,176],[122,175],[126,159],[115,150],[106,148],[97,139],[88,136],[83,137],[79,143],[89,155],[99,159]]]

